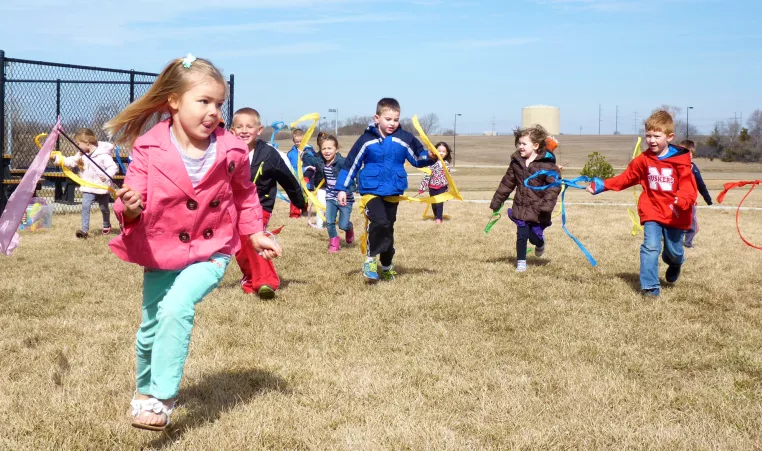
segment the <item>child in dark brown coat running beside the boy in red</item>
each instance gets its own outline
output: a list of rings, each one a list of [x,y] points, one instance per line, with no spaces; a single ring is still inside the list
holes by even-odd
[[[540,125],[516,129],[513,132],[516,152],[492,196],[490,209],[497,213],[515,189],[513,208],[508,209],[508,217],[516,223],[516,272],[527,270],[527,241],[535,245],[535,256],[545,253],[544,230],[551,225],[551,216],[556,207],[560,187],[535,191],[524,185],[524,180],[539,171],[559,173],[556,156],[548,146],[555,143]],[[551,146],[555,148],[555,146]],[[536,177],[529,181],[532,186],[545,186],[555,182],[550,175]]]

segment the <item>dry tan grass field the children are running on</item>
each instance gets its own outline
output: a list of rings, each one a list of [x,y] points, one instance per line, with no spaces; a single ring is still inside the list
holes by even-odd
[[[502,172],[455,178],[484,200]],[[608,204],[568,207],[597,268],[560,220],[515,274],[515,226],[484,235],[486,205],[449,202],[436,226],[403,204],[399,277],[375,286],[356,245],[329,255],[325,231],[278,202],[283,286],[273,301],[244,295],[231,263],[198,306],[166,434],[126,415],[141,269],[105,237],[76,240],[79,215],[56,215],[0,259],[0,449],[759,449],[762,252],[739,239],[735,211],[700,210],[680,280],[651,300],[638,293],[642,235],[615,205],[631,193],[567,199]],[[762,212],[742,228],[762,243]]]

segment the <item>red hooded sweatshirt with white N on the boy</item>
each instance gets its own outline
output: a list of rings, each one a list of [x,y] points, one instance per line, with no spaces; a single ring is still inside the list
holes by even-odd
[[[621,174],[605,181],[595,179],[595,194],[606,190],[621,191],[640,184],[643,187],[638,199],[641,224],[654,221],[667,227],[688,230],[693,204],[698,196],[696,179],[691,172],[691,154],[679,146],[669,147],[668,156],[662,160],[646,150],[632,160]]]

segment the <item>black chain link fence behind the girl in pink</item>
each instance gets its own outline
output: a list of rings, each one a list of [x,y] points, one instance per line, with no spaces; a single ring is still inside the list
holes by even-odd
[[[133,100],[142,96],[158,74],[134,70],[30,61],[6,58],[0,50],[0,211],[25,169],[34,160],[38,147],[34,139],[47,133],[61,116],[63,129],[72,136],[78,128],[89,128],[98,139],[107,141],[103,124]],[[233,117],[234,77],[228,81],[230,96],[222,108],[225,123]],[[74,155],[76,149],[59,138],[58,150]],[[122,161],[129,152],[121,150]],[[117,159],[117,155],[114,155]],[[122,173],[120,165],[120,172]],[[121,177],[118,177],[121,178]],[[45,198],[53,211],[78,212],[81,198],[76,184],[52,163],[38,184],[37,197]]]

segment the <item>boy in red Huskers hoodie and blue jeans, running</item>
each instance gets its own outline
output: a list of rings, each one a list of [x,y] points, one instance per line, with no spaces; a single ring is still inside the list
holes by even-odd
[[[664,279],[677,282],[685,260],[683,235],[691,227],[693,204],[698,195],[691,172],[688,149],[670,144],[675,139],[675,123],[666,111],[657,111],[646,120],[646,149],[625,171],[610,179],[596,178],[587,187],[592,194],[621,191],[636,184],[643,187],[638,199],[638,215],[643,225],[640,246],[640,287],[645,296],[659,296],[659,253],[668,265]]]

